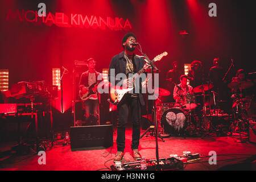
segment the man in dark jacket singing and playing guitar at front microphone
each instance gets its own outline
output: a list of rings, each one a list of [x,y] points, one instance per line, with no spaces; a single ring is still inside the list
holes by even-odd
[[[108,78],[110,82],[114,81],[112,82],[112,84],[116,85],[118,84],[118,82],[122,81],[123,86],[134,85],[135,88],[136,86],[139,86],[139,88],[141,88],[141,82],[143,80],[141,80],[139,82],[139,85],[137,85],[133,84],[133,82],[127,79],[116,79],[116,75],[119,73],[124,73],[125,75],[128,75],[129,73],[137,73],[142,68],[144,68],[145,71],[149,70],[148,65],[144,64],[143,58],[138,57],[134,54],[135,46],[137,45],[136,41],[136,36],[133,33],[128,33],[123,36],[122,46],[124,51],[122,51],[118,55],[115,55],[109,65]],[[112,71],[114,70],[114,74],[111,69]],[[141,134],[141,105],[144,105],[144,100],[141,92],[133,92],[127,94],[125,100],[117,105],[117,154],[114,157],[114,162],[120,162],[124,155],[123,151],[125,150],[125,128],[128,122],[129,107],[131,122],[133,123],[133,135],[131,141],[132,156],[135,160],[141,159],[141,154],[139,154],[138,151],[139,138]]]

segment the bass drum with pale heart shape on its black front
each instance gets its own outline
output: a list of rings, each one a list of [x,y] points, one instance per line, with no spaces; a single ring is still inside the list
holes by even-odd
[[[165,133],[180,137],[188,127],[188,117],[179,107],[166,110],[161,117],[161,126]]]

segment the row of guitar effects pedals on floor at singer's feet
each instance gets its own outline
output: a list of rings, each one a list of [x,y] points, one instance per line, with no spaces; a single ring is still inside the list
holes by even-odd
[[[147,160],[147,171],[156,171],[156,159]],[[113,171],[141,171],[141,161],[123,163],[122,167],[111,166]],[[177,158],[159,159],[159,168],[163,170],[178,170],[183,168],[183,162]]]

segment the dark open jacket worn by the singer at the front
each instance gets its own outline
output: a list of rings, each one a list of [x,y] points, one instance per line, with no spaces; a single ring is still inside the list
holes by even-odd
[[[110,77],[115,77],[118,73],[126,73],[126,59],[124,57],[125,52],[121,52],[118,55],[115,55],[109,65],[109,74],[108,74],[108,79],[109,81],[115,80],[115,83],[112,83],[116,85],[118,82],[122,80],[116,80],[114,78],[110,79]],[[142,57],[134,56],[134,68],[135,68],[135,73],[137,73],[139,70],[141,70],[144,66],[144,59]],[[115,75],[110,75],[110,69],[115,69]],[[144,80],[140,81],[140,90],[141,90],[141,82]],[[141,93],[139,93],[139,101],[141,102],[141,105],[145,105],[143,96]]]

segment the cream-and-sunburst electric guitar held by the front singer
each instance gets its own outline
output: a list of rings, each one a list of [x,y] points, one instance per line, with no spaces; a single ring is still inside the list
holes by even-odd
[[[163,52],[162,54],[156,56],[151,62],[154,63],[155,61],[160,61],[163,56],[167,56],[167,52]],[[146,60],[145,60],[146,61]],[[134,82],[139,75],[141,75],[144,72],[144,68],[142,68],[140,71],[135,73],[132,77],[127,78],[130,82]],[[125,96],[127,93],[129,93],[131,90],[133,90],[133,86],[127,86],[126,88],[123,88],[122,86],[114,85],[110,88],[110,102],[114,105],[120,104],[123,100],[125,100]]]

